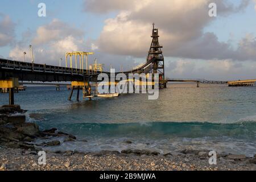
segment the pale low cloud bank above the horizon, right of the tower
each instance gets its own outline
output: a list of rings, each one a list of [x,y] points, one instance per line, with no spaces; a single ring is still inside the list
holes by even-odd
[[[168,78],[204,78],[208,80],[246,80],[255,77],[255,61],[191,60],[166,61]]]

